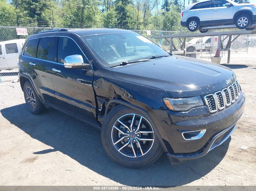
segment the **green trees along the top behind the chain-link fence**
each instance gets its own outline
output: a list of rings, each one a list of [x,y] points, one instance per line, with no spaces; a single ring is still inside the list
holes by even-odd
[[[54,25],[55,28],[175,30],[180,28],[183,2],[184,0],[0,0],[0,22],[17,26]]]

